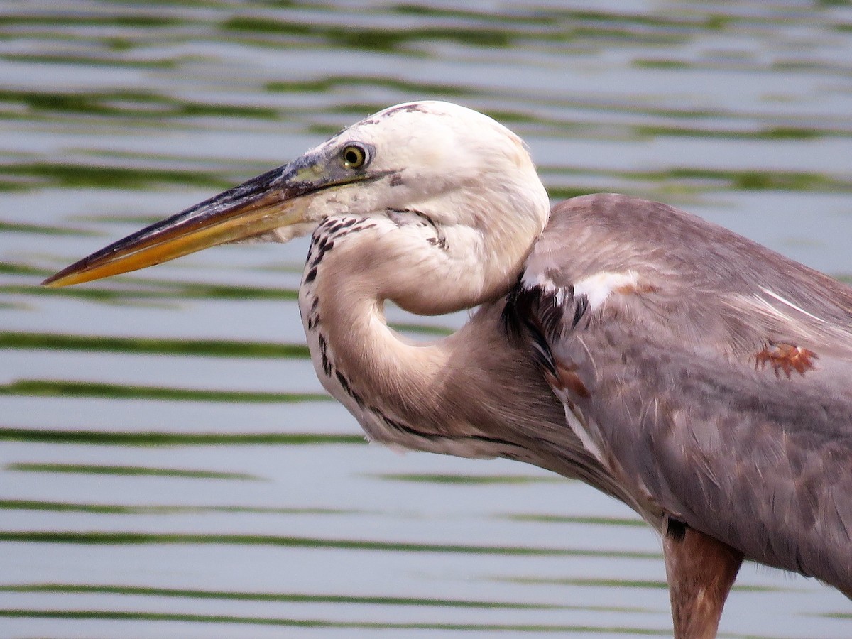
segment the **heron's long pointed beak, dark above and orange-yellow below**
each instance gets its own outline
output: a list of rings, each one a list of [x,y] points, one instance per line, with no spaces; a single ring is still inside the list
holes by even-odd
[[[307,199],[298,196],[336,186],[317,180],[316,169],[302,158],[268,171],[176,216],[119,239],[62,269],[42,284],[67,286],[127,273],[209,246],[306,222],[303,216]]]

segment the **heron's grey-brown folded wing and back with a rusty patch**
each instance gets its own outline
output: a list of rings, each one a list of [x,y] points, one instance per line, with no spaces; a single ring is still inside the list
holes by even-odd
[[[513,294],[568,426],[649,521],[852,590],[852,291],[664,204],[553,211]]]

